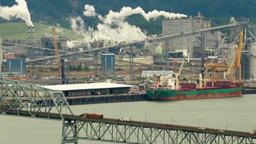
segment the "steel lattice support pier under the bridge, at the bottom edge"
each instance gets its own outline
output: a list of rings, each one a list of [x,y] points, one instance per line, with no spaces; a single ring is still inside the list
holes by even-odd
[[[63,120],[61,144],[64,144],[64,143],[78,144],[78,132],[79,132],[78,124],[79,124],[79,121]]]

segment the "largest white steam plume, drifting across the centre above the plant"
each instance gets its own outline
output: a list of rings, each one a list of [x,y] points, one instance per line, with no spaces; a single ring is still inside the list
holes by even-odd
[[[106,16],[96,14],[94,6],[85,5],[85,16],[97,16],[103,23],[97,24],[97,32],[92,39],[113,39],[117,41],[134,41],[143,40],[147,38],[139,27],[132,26],[125,21],[125,18],[130,15],[141,14],[145,20],[156,19],[159,16],[164,16],[167,19],[180,19],[181,17],[187,17],[184,14],[174,14],[165,11],[153,10],[146,13],[142,8],[138,7],[132,9],[130,7],[123,7],[119,12],[112,10]],[[113,28],[114,26],[114,28]]]

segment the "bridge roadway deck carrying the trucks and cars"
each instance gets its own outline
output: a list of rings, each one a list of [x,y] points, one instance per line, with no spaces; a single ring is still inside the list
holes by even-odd
[[[9,110],[5,114],[18,115],[18,110]],[[19,115],[30,117],[30,114],[27,111],[20,111]],[[113,119],[113,118],[89,118],[89,117],[80,117],[78,115],[65,115],[65,114],[62,114],[62,115],[66,121],[90,121],[95,123],[131,125],[135,127],[144,127],[144,128],[183,130],[183,131],[190,131],[190,132],[196,132],[196,133],[211,133],[211,134],[225,135],[225,136],[251,137],[252,139],[256,139],[256,134],[250,134],[249,132],[245,132],[245,131],[223,130],[224,132],[221,132],[219,131],[220,129],[212,129],[212,128],[200,129],[198,127],[190,127],[190,126],[184,126],[184,125],[161,124],[161,123],[139,122],[139,121],[119,121],[118,119]],[[49,118],[49,119],[59,120],[59,121],[62,120],[58,113],[38,112],[36,117]]]

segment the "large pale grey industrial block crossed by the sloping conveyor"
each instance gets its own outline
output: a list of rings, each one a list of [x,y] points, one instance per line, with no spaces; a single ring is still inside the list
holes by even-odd
[[[205,21],[200,12],[196,17],[189,16],[187,20],[163,20],[162,21],[162,35],[171,35],[177,33],[184,33],[189,31],[196,31],[203,28],[211,28],[211,21]],[[210,36],[207,36],[210,35]],[[210,39],[212,45],[219,44],[220,32],[214,34],[203,35],[204,39]],[[175,51],[175,50],[187,50],[190,57],[193,57],[193,43],[195,37],[201,37],[201,35],[183,37],[178,39],[166,39],[162,48],[162,51]],[[216,40],[217,39],[217,40]],[[201,39],[202,40],[202,39]],[[201,44],[200,40],[200,44]],[[212,42],[213,41],[213,42]]]

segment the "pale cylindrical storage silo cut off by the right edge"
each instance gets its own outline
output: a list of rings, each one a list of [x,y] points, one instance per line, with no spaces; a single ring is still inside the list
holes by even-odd
[[[256,44],[251,44],[248,53],[253,56],[256,56]],[[249,76],[256,77],[256,59],[250,58],[249,59]]]

